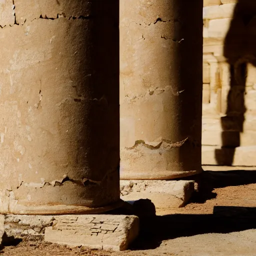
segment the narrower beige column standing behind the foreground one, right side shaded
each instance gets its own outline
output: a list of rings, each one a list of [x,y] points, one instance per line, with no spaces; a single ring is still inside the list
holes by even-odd
[[[120,1],[120,177],[201,172],[202,0]]]

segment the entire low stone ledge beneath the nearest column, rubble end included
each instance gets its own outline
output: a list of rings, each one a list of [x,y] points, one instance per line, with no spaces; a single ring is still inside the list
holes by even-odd
[[[44,240],[69,246],[125,250],[138,235],[133,215],[0,215],[0,231],[7,237],[44,236]]]

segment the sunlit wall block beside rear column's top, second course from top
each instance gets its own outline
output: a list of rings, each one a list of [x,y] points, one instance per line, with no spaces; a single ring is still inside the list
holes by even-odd
[[[235,3],[203,7],[203,19],[231,18]]]

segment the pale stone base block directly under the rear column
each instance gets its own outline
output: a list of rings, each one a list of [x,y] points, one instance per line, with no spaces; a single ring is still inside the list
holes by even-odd
[[[150,199],[156,208],[182,207],[193,191],[192,180],[120,180],[121,199]]]

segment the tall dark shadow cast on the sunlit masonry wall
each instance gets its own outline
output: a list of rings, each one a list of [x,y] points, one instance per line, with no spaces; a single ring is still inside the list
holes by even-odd
[[[256,1],[238,0],[223,51],[229,64],[230,88],[226,116],[221,118],[222,147],[215,150],[215,158],[217,164],[230,166],[243,132],[247,63],[256,66]]]

